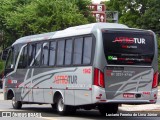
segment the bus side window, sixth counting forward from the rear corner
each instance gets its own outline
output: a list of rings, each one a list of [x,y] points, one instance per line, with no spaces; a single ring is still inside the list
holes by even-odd
[[[49,43],[45,42],[43,43],[43,49],[42,49],[42,66],[48,65],[48,53],[49,53]]]

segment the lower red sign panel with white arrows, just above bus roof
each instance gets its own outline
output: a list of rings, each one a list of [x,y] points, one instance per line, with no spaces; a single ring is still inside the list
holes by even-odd
[[[105,12],[92,11],[92,15],[96,18],[97,22],[106,22]]]

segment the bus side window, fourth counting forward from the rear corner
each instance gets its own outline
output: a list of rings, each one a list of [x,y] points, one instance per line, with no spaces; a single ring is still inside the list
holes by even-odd
[[[63,65],[65,40],[58,41],[57,65]]]

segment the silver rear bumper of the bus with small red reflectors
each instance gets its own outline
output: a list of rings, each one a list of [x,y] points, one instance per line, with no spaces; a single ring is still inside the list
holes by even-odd
[[[123,93],[113,99],[107,99],[107,94],[104,88],[93,86],[92,100],[94,103],[117,103],[117,104],[155,104],[157,102],[158,88],[152,89],[149,94],[141,91],[139,98],[124,98]],[[135,94],[137,94],[135,92]]]

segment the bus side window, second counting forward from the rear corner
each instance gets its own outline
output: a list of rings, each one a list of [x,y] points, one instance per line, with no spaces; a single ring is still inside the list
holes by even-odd
[[[76,38],[74,41],[73,64],[82,64],[83,38]]]

